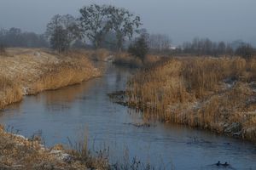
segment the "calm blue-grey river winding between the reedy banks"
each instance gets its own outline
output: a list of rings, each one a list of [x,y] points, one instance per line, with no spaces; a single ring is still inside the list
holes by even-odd
[[[128,68],[104,64],[106,74],[89,82],[26,96],[0,114],[9,131],[42,133],[48,146],[88,137],[90,150],[108,149],[111,162],[134,157],[165,169],[256,169],[256,145],[206,131],[153,122],[137,127],[140,114],[114,104],[108,93],[125,89]],[[73,143],[74,144],[74,143]],[[227,161],[230,167],[215,163]]]

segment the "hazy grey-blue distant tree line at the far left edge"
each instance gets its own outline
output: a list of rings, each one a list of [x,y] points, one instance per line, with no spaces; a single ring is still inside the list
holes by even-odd
[[[49,47],[44,35],[34,32],[21,31],[19,28],[0,29],[0,46],[3,47],[24,47],[42,48]]]

